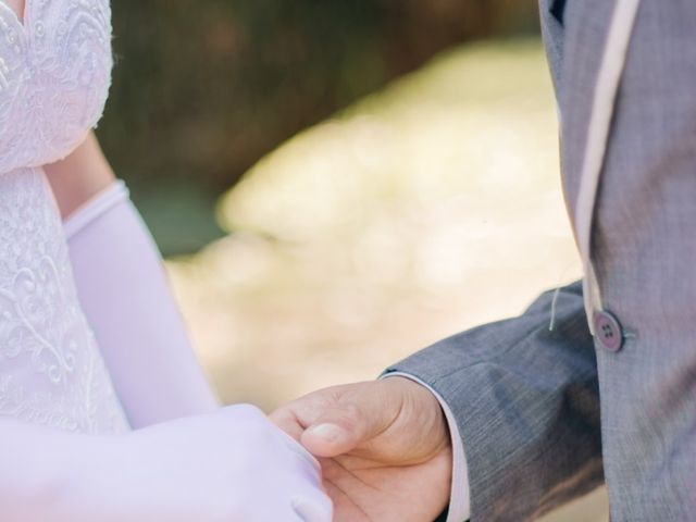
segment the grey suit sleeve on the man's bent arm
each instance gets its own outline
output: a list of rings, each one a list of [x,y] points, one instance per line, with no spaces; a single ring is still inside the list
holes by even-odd
[[[542,295],[519,318],[436,343],[393,372],[421,380],[452,411],[472,522],[533,520],[604,481],[597,362],[580,282]]]

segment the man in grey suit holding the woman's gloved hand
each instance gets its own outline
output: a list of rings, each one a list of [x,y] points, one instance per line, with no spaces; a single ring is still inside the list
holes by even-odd
[[[696,2],[540,11],[583,281],[275,412],[338,521],[696,521]]]

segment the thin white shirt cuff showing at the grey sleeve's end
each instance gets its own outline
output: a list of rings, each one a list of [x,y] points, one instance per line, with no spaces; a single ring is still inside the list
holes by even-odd
[[[469,490],[469,470],[467,468],[467,456],[464,453],[464,443],[459,435],[457,420],[452,414],[447,402],[437,391],[420,378],[409,375],[408,373],[394,372],[383,375],[382,378],[388,377],[406,377],[426,387],[437,398],[439,406],[445,412],[447,424],[449,426],[449,435],[452,440],[452,488],[449,498],[449,512],[447,513],[447,522],[464,522],[471,517],[470,490]]]

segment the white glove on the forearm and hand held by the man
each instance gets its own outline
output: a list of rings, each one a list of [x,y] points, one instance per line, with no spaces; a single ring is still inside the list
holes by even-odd
[[[0,420],[0,437],[3,522],[332,519],[319,464],[250,406],[119,437]]]

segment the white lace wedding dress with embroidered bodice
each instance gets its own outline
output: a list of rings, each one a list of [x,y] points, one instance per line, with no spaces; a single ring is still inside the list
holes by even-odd
[[[100,119],[109,0],[0,0],[0,415],[91,434],[128,430],[73,282],[41,165]]]

